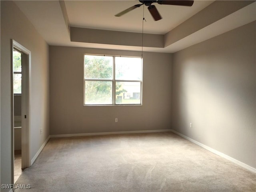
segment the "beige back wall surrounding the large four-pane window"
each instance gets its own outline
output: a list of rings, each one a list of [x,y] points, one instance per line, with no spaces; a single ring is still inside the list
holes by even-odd
[[[50,46],[51,135],[170,129],[172,54],[144,53],[142,106],[83,106],[85,53],[141,56],[132,51]]]

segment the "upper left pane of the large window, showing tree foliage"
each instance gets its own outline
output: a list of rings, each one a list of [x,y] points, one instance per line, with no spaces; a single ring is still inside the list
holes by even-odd
[[[112,79],[113,57],[85,55],[84,78]]]

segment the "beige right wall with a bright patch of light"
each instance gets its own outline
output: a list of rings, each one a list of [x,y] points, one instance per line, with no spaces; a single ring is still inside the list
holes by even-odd
[[[255,24],[176,52],[172,70],[172,128],[253,168]]]

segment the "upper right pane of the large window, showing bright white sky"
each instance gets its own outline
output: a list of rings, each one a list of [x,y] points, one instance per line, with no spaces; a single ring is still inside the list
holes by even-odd
[[[115,57],[116,80],[141,80],[142,59]]]

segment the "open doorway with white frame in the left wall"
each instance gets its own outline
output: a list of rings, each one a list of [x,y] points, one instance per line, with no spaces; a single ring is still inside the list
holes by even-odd
[[[12,170],[13,183],[30,167],[31,52],[12,40]]]

